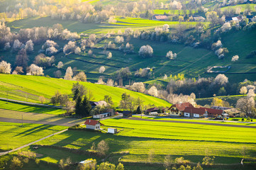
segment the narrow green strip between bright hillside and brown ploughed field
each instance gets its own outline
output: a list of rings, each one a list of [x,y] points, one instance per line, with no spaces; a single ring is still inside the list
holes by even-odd
[[[11,111],[21,111],[21,112],[30,112],[30,113],[46,113],[51,115],[60,115],[65,113],[62,109],[57,108],[47,108],[40,106],[31,106],[20,103],[6,102],[0,100],[0,108],[11,110]]]

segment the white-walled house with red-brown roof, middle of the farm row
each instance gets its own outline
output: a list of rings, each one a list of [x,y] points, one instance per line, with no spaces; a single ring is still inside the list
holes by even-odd
[[[201,118],[207,116],[206,108],[187,107],[184,109],[184,117]]]

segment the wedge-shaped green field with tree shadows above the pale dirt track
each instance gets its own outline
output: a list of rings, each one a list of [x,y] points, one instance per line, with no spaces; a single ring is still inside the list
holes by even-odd
[[[0,122],[0,149],[15,149],[66,128],[62,126],[25,123],[21,127],[21,123]]]

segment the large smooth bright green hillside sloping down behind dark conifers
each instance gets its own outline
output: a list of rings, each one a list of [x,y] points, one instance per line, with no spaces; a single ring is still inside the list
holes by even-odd
[[[0,74],[0,97],[6,98],[6,94],[8,92],[8,97],[11,99],[39,103],[39,96],[50,98],[55,94],[55,91],[71,95],[72,84],[74,83],[76,83],[76,81],[53,79],[48,77]],[[80,82],[80,84],[83,84],[87,89],[92,91],[94,101],[103,100],[105,95],[111,96],[114,106],[118,106],[123,93],[130,94],[130,96],[133,96],[134,98],[140,97],[145,101],[145,104],[155,104],[155,106],[171,105],[160,98],[129,91],[127,89],[92,84],[89,82]]]

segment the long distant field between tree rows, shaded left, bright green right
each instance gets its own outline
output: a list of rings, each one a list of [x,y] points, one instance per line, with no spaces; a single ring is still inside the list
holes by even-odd
[[[120,18],[117,17],[117,23],[80,23],[79,21],[62,21],[62,20],[52,20],[50,17],[32,17],[26,18],[18,21],[11,21],[7,23],[7,26],[11,28],[12,31],[18,31],[21,28],[33,28],[40,26],[53,26],[55,23],[62,24],[63,28],[67,28],[72,32],[77,33],[117,33],[118,30],[125,30],[126,28],[133,28],[134,30],[152,30],[156,26],[163,26],[169,24],[170,28],[177,28],[180,24],[179,22],[165,22],[165,21],[152,21],[143,18]],[[46,24],[46,25],[45,25]],[[186,26],[194,26],[195,22],[181,23],[186,24]],[[206,23],[208,25],[208,23]]]

